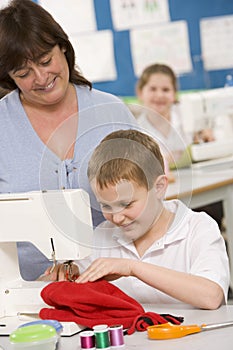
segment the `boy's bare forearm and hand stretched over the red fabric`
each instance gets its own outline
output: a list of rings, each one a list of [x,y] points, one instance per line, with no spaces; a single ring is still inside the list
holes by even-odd
[[[161,292],[201,309],[216,309],[224,300],[222,288],[211,280],[132,259],[99,258],[76,282],[134,276]]]

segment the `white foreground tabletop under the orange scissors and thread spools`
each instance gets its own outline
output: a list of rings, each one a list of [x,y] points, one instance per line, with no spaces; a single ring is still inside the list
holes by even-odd
[[[174,316],[183,316],[183,324],[210,324],[233,321],[233,305],[224,305],[217,310],[193,309],[183,304],[176,305],[145,305],[146,311],[170,313]],[[125,350],[231,350],[233,343],[233,327],[209,330],[190,334],[182,338],[167,340],[150,340],[147,332],[135,332],[124,336]],[[10,350],[9,338],[0,337],[0,345],[4,350]],[[57,350],[80,350],[80,336],[61,337]],[[114,348],[115,350],[119,348]]]

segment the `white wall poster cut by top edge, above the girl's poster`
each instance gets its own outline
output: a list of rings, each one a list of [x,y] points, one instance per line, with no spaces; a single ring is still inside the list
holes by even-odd
[[[170,20],[168,0],[111,0],[110,5],[116,30]]]

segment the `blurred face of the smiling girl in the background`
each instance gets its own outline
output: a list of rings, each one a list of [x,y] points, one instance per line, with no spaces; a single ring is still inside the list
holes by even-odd
[[[151,74],[147,83],[138,91],[138,97],[144,106],[162,116],[169,115],[176,98],[172,79],[164,73]]]

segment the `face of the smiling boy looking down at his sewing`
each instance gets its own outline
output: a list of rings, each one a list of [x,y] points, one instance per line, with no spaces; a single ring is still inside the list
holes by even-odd
[[[93,182],[92,189],[105,219],[129,239],[137,240],[149,232],[160,216],[162,202],[155,187],[148,191],[133,181],[121,180],[103,189]]]

